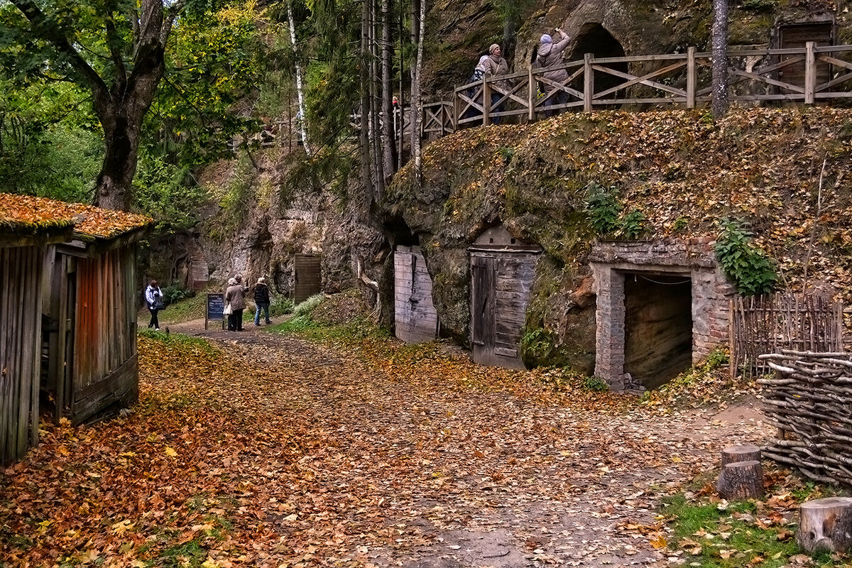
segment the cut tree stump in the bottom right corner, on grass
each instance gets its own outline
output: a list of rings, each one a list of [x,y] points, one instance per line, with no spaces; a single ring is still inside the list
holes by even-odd
[[[844,553],[852,545],[852,497],[826,497],[799,507],[796,542],[808,552]]]

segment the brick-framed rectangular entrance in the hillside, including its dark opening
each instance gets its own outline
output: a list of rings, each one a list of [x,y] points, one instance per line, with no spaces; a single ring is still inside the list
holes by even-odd
[[[710,239],[596,243],[595,374],[613,390],[670,381],[728,342],[735,290]]]

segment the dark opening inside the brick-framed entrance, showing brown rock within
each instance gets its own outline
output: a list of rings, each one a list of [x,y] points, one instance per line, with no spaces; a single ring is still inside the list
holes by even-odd
[[[692,278],[625,273],[625,373],[650,390],[693,360]]]

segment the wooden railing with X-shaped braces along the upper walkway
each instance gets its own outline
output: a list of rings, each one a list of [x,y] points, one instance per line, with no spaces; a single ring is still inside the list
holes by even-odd
[[[818,47],[811,42],[803,48],[732,50],[728,63],[728,99],[734,103],[852,101],[852,45]],[[433,139],[491,124],[495,118],[534,121],[548,111],[698,108],[711,103],[711,64],[710,53],[690,47],[686,53],[669,55],[596,58],[586,54],[583,60],[560,66],[486,77],[458,86],[452,100],[424,104],[420,135]],[[544,77],[557,69],[567,72],[564,81]],[[410,139],[412,123],[410,106],[394,112],[396,140]],[[356,118],[353,128],[360,128]],[[289,134],[253,137],[261,146],[298,141],[293,123],[281,123],[277,132]]]

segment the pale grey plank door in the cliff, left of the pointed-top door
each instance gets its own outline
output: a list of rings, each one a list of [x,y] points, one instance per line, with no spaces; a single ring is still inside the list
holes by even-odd
[[[406,343],[432,341],[438,336],[432,278],[417,246],[400,245],[394,253],[394,321],[396,336]]]

